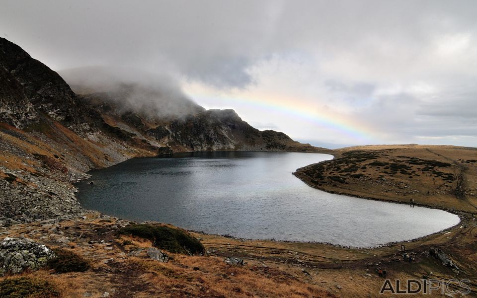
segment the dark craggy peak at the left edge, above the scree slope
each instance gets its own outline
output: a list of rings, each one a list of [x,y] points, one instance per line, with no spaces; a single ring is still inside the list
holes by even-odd
[[[71,126],[80,105],[65,80],[19,46],[0,38],[0,121],[17,128],[38,122],[38,113]]]

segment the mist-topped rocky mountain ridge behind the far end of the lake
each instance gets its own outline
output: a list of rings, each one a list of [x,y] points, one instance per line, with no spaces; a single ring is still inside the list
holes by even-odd
[[[91,74],[90,72],[95,74]],[[319,149],[282,133],[261,132],[233,110],[205,110],[173,83],[152,74],[85,68],[63,72],[81,103],[99,113],[102,131],[134,147],[151,151]],[[132,77],[134,76],[134,77]],[[137,76],[137,77],[136,77]],[[158,150],[159,148],[159,150]]]

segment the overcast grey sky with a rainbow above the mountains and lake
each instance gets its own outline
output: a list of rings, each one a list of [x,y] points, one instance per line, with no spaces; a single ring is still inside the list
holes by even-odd
[[[55,71],[166,74],[300,141],[477,147],[476,0],[0,0],[0,36]]]

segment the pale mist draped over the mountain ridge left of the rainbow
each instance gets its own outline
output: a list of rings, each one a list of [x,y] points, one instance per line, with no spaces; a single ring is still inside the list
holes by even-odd
[[[167,120],[205,111],[165,74],[101,66],[68,69],[59,74],[77,94],[113,105],[120,114],[138,113],[149,120]]]

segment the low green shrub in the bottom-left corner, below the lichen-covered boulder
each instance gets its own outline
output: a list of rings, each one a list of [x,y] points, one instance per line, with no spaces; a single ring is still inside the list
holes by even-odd
[[[60,293],[46,280],[30,277],[7,278],[0,282],[0,298],[50,298]]]

